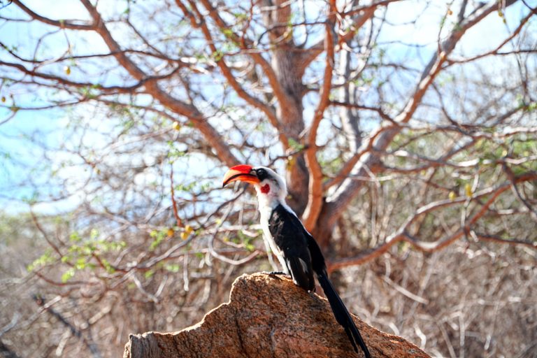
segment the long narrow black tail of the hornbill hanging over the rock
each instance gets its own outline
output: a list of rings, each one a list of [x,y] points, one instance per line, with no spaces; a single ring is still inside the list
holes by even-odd
[[[338,323],[341,324],[343,329],[345,329],[345,333],[349,337],[349,341],[350,343],[352,343],[352,347],[355,348],[356,352],[358,352],[359,345],[361,350],[364,351],[364,355],[366,356],[366,358],[371,358],[371,354],[367,349],[366,343],[364,343],[364,340],[361,338],[360,332],[358,331],[355,322],[352,320],[352,317],[350,317],[350,313],[345,307],[345,304],[343,303],[343,301],[341,301],[338,292],[336,292],[336,289],[332,285],[332,282],[330,282],[327,271],[323,270],[321,272],[318,272],[317,280],[319,280],[322,290],[327,296],[328,302],[330,303],[330,306],[332,308],[332,312],[334,313],[334,317],[336,317],[336,321],[338,321]]]

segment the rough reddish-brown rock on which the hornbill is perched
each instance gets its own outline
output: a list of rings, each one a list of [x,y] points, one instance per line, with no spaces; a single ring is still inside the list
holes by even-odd
[[[354,318],[372,357],[429,357],[412,343]],[[129,336],[124,358],[363,357],[352,350],[326,299],[282,275],[237,278],[228,303],[173,333]]]

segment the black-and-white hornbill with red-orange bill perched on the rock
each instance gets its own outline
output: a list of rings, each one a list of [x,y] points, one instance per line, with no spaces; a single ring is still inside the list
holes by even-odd
[[[352,321],[349,311],[328,278],[327,266],[319,245],[303,226],[299,217],[285,203],[287,196],[285,181],[275,171],[264,166],[252,167],[244,164],[233,166],[227,171],[223,186],[236,180],[254,185],[259,201],[264,240],[278,257],[284,273],[291,275],[294,284],[308,292],[315,290],[313,278],[315,273],[336,321],[345,329],[355,352],[358,352],[359,345],[365,357],[370,358],[371,355],[355,322]]]

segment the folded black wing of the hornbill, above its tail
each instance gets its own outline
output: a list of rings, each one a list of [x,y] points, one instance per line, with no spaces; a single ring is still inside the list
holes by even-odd
[[[268,228],[296,285],[307,291],[315,289],[311,255],[308,249],[308,233],[296,215],[278,205],[272,210]]]

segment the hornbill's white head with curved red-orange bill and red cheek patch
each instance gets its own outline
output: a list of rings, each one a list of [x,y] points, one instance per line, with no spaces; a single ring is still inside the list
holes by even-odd
[[[224,186],[229,182],[241,180],[254,185],[259,200],[259,207],[285,204],[287,186],[282,177],[265,166],[237,165],[227,171],[224,176]]]

